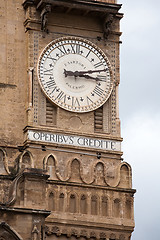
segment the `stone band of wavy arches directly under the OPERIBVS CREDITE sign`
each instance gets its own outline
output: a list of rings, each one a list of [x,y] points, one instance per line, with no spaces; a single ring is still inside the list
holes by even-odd
[[[129,164],[123,162],[114,165],[114,163],[106,164],[103,160],[97,160],[86,167],[82,162],[79,159],[68,159],[66,165],[64,164],[66,175],[62,176],[60,172],[62,165],[58,165],[56,157],[50,154],[44,158],[43,167],[48,170],[50,179],[53,180],[131,188],[131,167]],[[86,168],[89,171],[86,171]]]

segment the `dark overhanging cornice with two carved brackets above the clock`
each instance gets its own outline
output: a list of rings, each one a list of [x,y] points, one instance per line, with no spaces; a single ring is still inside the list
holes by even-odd
[[[40,12],[41,30],[48,32],[48,16],[52,11],[79,14],[80,16],[98,16],[102,19],[104,38],[112,33],[112,25],[115,18],[122,18],[119,13],[121,4],[111,4],[92,0],[25,0],[24,9],[34,6]]]

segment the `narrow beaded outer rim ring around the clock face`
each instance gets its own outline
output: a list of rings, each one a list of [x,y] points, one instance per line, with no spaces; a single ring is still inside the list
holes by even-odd
[[[105,98],[103,98],[103,101],[101,101],[101,103],[99,105],[96,105],[95,103],[95,106],[92,108],[87,108],[87,107],[83,107],[82,109],[80,108],[77,108],[77,109],[74,109],[73,107],[65,107],[63,106],[62,104],[60,104],[59,102],[55,102],[46,92],[46,89],[44,88],[43,84],[42,84],[42,80],[41,80],[41,76],[40,76],[40,65],[41,65],[41,60],[43,59],[44,55],[47,53],[47,51],[49,49],[51,49],[51,47],[55,44],[57,44],[58,42],[63,42],[63,41],[80,41],[80,42],[83,42],[83,43],[86,43],[88,44],[90,47],[92,47],[93,49],[95,49],[102,57],[103,59],[105,60],[106,64],[107,64],[107,69],[109,71],[109,74],[110,74],[110,80],[109,80],[109,83],[110,83],[110,87],[109,87],[109,90],[107,91],[107,94],[105,96]],[[46,58],[47,59],[47,58]],[[60,37],[60,38],[57,38],[57,39],[54,39],[53,41],[51,41],[50,43],[48,43],[46,45],[46,47],[41,51],[40,55],[39,55],[39,58],[38,58],[38,62],[37,62],[37,78],[38,78],[38,82],[40,84],[40,87],[41,87],[41,90],[43,91],[43,93],[45,94],[45,96],[47,97],[47,99],[49,101],[51,101],[52,104],[55,104],[56,106],[66,110],[66,111],[69,111],[69,112],[75,112],[75,113],[86,113],[86,112],[91,112],[91,111],[94,111],[98,108],[100,108],[102,105],[104,105],[104,103],[108,100],[108,98],[110,97],[111,93],[112,93],[112,90],[113,90],[113,75],[112,75],[112,69],[111,69],[111,64],[109,62],[109,59],[108,57],[106,56],[106,54],[102,51],[102,49],[100,49],[96,44],[94,44],[93,42],[89,41],[88,39],[85,39],[85,38],[81,38],[81,37],[75,37],[75,36],[66,36],[66,37]]]

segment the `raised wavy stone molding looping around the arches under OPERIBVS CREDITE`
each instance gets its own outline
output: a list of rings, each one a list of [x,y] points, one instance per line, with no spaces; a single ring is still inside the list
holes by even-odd
[[[104,184],[99,183],[98,185],[105,185],[105,186],[109,186],[109,187],[117,187],[120,184],[121,181],[121,167],[122,166],[126,166],[126,168],[128,169],[128,176],[129,176],[129,183],[128,183],[128,189],[131,188],[132,186],[132,182],[131,182],[131,167],[128,163],[126,162],[122,162],[116,166],[114,165],[106,165],[105,162],[103,160],[97,160],[94,161],[94,163],[92,163],[89,166],[90,169],[90,174],[88,175],[88,173],[84,174],[84,166],[82,164],[82,161],[75,158],[75,159],[68,159],[66,166],[65,166],[65,171],[66,171],[66,176],[63,177],[61,176],[60,173],[60,169],[59,169],[59,164],[58,164],[58,159],[55,155],[53,154],[49,154],[47,155],[44,160],[43,160],[43,168],[45,170],[47,169],[47,161],[49,157],[53,157],[54,163],[53,163],[53,168],[54,168],[54,174],[56,176],[57,180],[63,181],[63,182],[69,182],[70,178],[72,176],[72,164],[73,161],[77,161],[79,163],[79,177],[77,178],[77,182],[79,182],[79,179],[81,179],[81,181],[84,184],[94,184],[96,178],[97,178],[97,165],[98,164],[102,164],[103,169],[102,169],[102,173],[103,174],[103,180],[104,180]],[[55,180],[56,180],[55,179]],[[96,183],[97,185],[97,183]],[[121,186],[122,187],[122,186]],[[126,188],[126,187],[125,187]]]

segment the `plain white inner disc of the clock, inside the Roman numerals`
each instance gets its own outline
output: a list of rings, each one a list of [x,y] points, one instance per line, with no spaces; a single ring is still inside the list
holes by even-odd
[[[55,76],[55,82],[61,86],[68,94],[71,91],[73,95],[77,95],[84,91],[90,91],[90,87],[94,89],[96,82],[86,79],[83,76],[79,76],[79,71],[93,70],[93,65],[83,56],[75,54],[68,54],[62,56],[55,64],[53,75]],[[64,70],[72,72],[72,74],[65,75]]]

